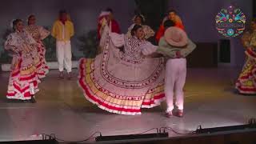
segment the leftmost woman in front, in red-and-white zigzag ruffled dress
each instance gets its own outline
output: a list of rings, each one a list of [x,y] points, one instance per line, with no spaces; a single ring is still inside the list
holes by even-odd
[[[38,92],[37,66],[40,66],[37,42],[23,29],[21,19],[13,22],[14,33],[7,37],[5,49],[13,55],[11,73],[6,97],[10,99],[34,101]]]

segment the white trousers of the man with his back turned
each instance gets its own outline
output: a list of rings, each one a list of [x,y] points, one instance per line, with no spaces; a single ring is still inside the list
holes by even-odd
[[[174,110],[174,95],[176,96],[175,105],[178,107],[178,110],[183,110],[183,87],[185,85],[185,82],[186,58],[174,58],[167,60],[165,79],[167,112]]]

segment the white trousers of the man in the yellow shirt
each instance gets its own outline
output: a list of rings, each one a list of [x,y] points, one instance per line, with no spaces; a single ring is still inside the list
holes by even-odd
[[[57,41],[56,49],[58,58],[58,70],[63,71],[65,65],[66,71],[70,73],[72,71],[72,52],[70,41]]]

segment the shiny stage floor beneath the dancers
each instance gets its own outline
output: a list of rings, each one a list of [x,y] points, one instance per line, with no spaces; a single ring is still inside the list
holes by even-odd
[[[31,139],[34,134],[55,134],[57,138],[78,141],[95,131],[102,135],[138,134],[168,126],[186,133],[199,125],[207,128],[246,124],[256,118],[256,96],[235,93],[239,71],[189,69],[183,118],[165,118],[165,104],[144,109],[142,115],[110,114],[86,101],[76,77],[72,81],[58,80],[57,70],[51,70],[39,85],[37,103],[8,102],[5,94],[9,73],[0,73],[0,141]],[[175,136],[170,132],[170,137]]]

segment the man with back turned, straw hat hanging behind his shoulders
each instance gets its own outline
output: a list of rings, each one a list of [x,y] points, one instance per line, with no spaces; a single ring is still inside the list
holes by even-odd
[[[174,94],[176,95],[175,105],[178,107],[176,116],[183,116],[184,93],[183,87],[186,82],[186,56],[195,49],[195,44],[186,36],[184,30],[175,27],[175,22],[167,20],[164,22],[165,34],[160,38],[157,49],[144,49],[143,54],[151,54],[157,51],[167,58],[165,76],[166,94],[166,117],[170,118],[174,110]]]

